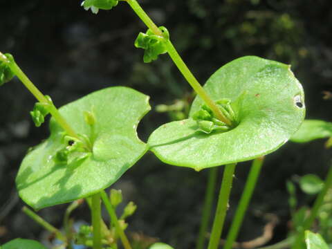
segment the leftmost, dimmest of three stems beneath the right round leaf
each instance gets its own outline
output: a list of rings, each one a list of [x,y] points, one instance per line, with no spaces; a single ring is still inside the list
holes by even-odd
[[[218,173],[218,167],[213,167],[212,169],[209,170],[208,185],[205,190],[205,201],[203,206],[201,228],[199,229],[199,237],[197,239],[196,249],[204,248],[205,233],[206,230],[208,230],[208,225],[210,221],[214,189],[216,187],[217,173]]]

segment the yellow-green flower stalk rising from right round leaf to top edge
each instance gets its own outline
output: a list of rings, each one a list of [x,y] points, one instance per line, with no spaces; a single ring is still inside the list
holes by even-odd
[[[154,24],[154,21],[150,19],[150,17],[147,15],[147,13],[140,7],[138,2],[136,0],[124,0],[129,3],[129,6],[133,9],[133,11],[140,17],[140,19],[144,22],[144,24],[155,34],[163,37],[163,33],[159,30],[159,28]],[[172,58],[174,64],[178,67],[178,70],[183,74],[185,77],[185,80],[192,86],[194,91],[202,98],[202,100],[205,102],[205,104],[210,107],[210,109],[213,111],[216,118],[219,120],[225,122],[225,124],[228,124],[229,126],[232,125],[232,122],[228,118],[223,115],[219,107],[217,107],[216,103],[210,98],[208,93],[203,89],[201,84],[199,84],[198,80],[196,80],[196,77],[192,74],[192,72],[189,70],[185,62],[183,62],[183,59],[178,54],[176,49],[174,48],[172,42],[168,40],[166,42],[166,48],[169,56]]]

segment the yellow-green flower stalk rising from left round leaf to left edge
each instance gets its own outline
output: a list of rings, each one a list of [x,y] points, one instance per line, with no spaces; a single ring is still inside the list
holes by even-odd
[[[3,56],[4,55],[2,55],[2,53],[0,53],[0,58],[2,57],[1,60],[3,60]],[[48,102],[47,98],[44,96],[44,94],[41,91],[39,91],[39,89],[37,89],[37,87],[33,84],[33,82],[31,82],[29,80],[29,78],[26,76],[26,74],[23,71],[21,71],[21,68],[19,68],[19,66],[16,64],[15,61],[12,61],[12,62],[8,61],[8,66],[10,67],[12,72],[15,73],[15,75],[19,78],[19,80],[21,80],[21,82],[24,84],[24,86],[26,86],[26,88],[30,91],[30,93],[32,93],[39,102],[44,102],[44,103],[50,104]],[[68,135],[78,138],[75,131],[71,128],[71,126],[68,124],[68,122],[66,122],[66,120],[62,117],[62,115],[59,113],[59,111],[55,108],[55,106],[53,104],[50,108],[50,114],[53,116],[53,118],[55,118],[57,123],[62,126],[62,128],[68,133]]]

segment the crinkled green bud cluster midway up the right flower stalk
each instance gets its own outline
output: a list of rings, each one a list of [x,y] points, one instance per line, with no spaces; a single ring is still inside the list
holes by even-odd
[[[136,48],[142,48],[145,50],[143,61],[145,63],[152,62],[158,59],[158,55],[167,53],[166,42],[169,39],[169,33],[167,28],[161,26],[159,29],[163,32],[163,36],[154,35],[154,33],[148,29],[147,33],[139,33],[135,40],[134,45]]]

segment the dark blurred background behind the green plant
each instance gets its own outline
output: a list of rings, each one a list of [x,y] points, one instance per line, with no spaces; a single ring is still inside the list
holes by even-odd
[[[332,9],[327,0],[144,0],[142,7],[157,25],[166,26],[174,46],[200,82],[223,64],[243,55],[257,55],[291,64],[306,93],[306,118],[331,120]],[[93,15],[80,1],[0,1],[0,50],[12,53],[31,80],[57,107],[108,86],[129,86],[151,96],[153,110],[142,119],[139,136],[169,121],[154,111],[192,91],[169,59],[161,55],[144,64],[143,50],[133,42],[146,28],[126,3]],[[15,237],[40,239],[42,228],[20,210],[15,176],[29,147],[48,136],[36,128],[29,111],[35,100],[17,79],[0,89],[0,243]],[[274,243],[289,227],[285,183],[294,176],[324,177],[331,165],[324,141],[306,145],[288,142],[266,157],[239,241],[260,236],[266,221],[279,218]],[[249,163],[237,167],[230,224],[248,174]],[[221,174],[221,169],[219,169]],[[138,205],[129,231],[156,237],[176,248],[193,248],[199,230],[208,171],[174,167],[145,155],[113,187]],[[220,181],[219,175],[219,181]],[[218,187],[219,190],[219,187]],[[218,191],[216,190],[216,192]],[[307,199],[299,194],[299,205]],[[309,202],[310,203],[310,202]],[[61,225],[66,205],[39,212]],[[89,221],[86,208],[73,213]],[[227,229],[225,229],[227,231]]]

